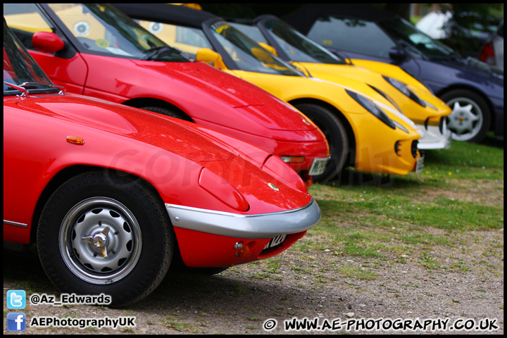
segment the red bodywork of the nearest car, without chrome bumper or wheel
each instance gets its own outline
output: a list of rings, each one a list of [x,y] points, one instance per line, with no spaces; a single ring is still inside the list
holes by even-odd
[[[84,144],[70,144],[68,136],[80,137]],[[44,189],[62,170],[80,165],[142,177],[165,204],[258,214],[300,208],[311,201],[301,178],[279,159],[207,127],[80,95],[4,96],[4,220],[28,225],[4,224],[4,241],[29,244]],[[206,189],[202,188],[198,181],[203,167],[229,182],[248,202],[248,211],[235,210],[225,203],[226,198],[214,196],[223,189],[221,179],[213,189],[213,175],[208,175]],[[266,189],[268,182],[280,192]],[[283,248],[264,256],[259,253],[269,239],[246,240],[257,242],[251,245],[251,253],[235,258],[232,246],[242,239],[176,227],[175,233],[182,258],[195,266],[273,256],[303,235],[290,235]],[[199,251],[206,252],[202,262],[192,253],[199,242],[196,236],[202,239]],[[223,246],[227,249],[214,253],[218,242],[227,242]]]

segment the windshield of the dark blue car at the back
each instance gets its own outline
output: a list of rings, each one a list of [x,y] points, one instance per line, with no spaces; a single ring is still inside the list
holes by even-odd
[[[432,60],[448,59],[455,54],[453,49],[425,35],[406,20],[388,20],[380,25],[398,42]]]

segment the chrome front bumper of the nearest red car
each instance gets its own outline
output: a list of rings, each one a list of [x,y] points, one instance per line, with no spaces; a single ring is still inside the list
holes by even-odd
[[[320,220],[320,208],[314,199],[302,208],[278,213],[240,215],[220,211],[165,204],[175,227],[210,234],[246,239],[272,238],[308,230]]]

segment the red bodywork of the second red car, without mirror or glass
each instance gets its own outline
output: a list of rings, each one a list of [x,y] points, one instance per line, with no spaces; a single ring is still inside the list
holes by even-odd
[[[151,98],[177,106],[194,122],[232,134],[278,156],[306,156],[308,170],[326,157],[327,141],[315,125],[277,97],[205,63],[141,61],[77,53],[73,58],[30,51],[51,80],[68,92],[120,104]]]

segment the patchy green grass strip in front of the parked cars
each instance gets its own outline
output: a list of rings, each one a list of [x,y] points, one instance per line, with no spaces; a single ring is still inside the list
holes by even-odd
[[[379,264],[405,263],[417,251],[413,259],[429,270],[466,273],[470,262],[444,265],[431,250],[462,247],[465,234],[473,231],[503,229],[503,143],[491,134],[482,144],[453,142],[451,149],[427,151],[419,174],[388,177],[349,170],[339,181],[313,184],[309,191],[322,218],[294,250],[327,250]],[[503,243],[488,244],[483,252],[501,256]],[[367,278],[363,270],[340,269],[346,276]],[[301,265],[294,270],[306,271]]]

